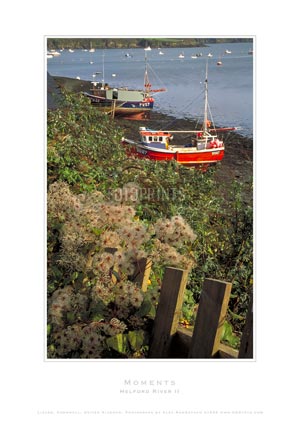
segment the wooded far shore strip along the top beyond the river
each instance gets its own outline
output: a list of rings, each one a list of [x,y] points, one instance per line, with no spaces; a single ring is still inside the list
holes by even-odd
[[[251,43],[252,38],[47,38],[50,49],[206,47],[216,43]]]

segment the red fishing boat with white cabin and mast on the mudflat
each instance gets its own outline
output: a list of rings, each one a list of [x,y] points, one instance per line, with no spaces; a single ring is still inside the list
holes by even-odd
[[[201,129],[192,131],[161,131],[140,127],[140,140],[134,141],[123,137],[128,154],[152,160],[175,160],[181,165],[206,168],[221,161],[224,157],[224,143],[218,133],[233,131],[235,127],[215,128],[208,120],[208,83],[207,65],[205,78],[204,120]],[[176,134],[191,134],[189,143],[173,144]],[[175,140],[174,140],[175,141]]]

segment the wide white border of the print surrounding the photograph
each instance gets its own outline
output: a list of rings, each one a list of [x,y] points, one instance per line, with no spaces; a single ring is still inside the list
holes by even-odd
[[[292,57],[290,28],[297,24],[292,6],[281,10],[272,5],[269,19],[269,12],[260,8],[261,2],[218,3],[195,8],[194,2],[186,1],[178,12],[170,11],[168,3],[160,2],[157,8],[154,0],[146,7],[137,1],[115,2],[114,10],[93,0],[86,6],[53,0],[46,11],[44,4],[31,0],[5,6],[3,16],[14,22],[16,31],[5,38],[3,35],[9,48],[3,53],[7,65],[2,66],[3,82],[8,82],[3,84],[1,169],[5,303],[1,310],[5,387],[1,414],[5,422],[16,418],[32,423],[82,423],[84,418],[84,422],[98,423],[106,417],[130,423],[142,419],[147,423],[154,415],[166,415],[175,423],[183,417],[189,422],[199,422],[201,417],[204,422],[219,422],[221,418],[222,422],[232,423],[236,416],[239,422],[242,417],[243,422],[253,423],[289,417],[294,421],[299,416],[295,393],[290,388],[296,371],[295,356],[286,349],[289,340],[294,340],[291,317],[297,296],[295,293],[286,300],[282,292],[282,284],[294,280],[292,263],[298,261],[288,235],[297,230],[293,180],[298,178],[295,169],[299,147],[293,145],[287,181],[287,168],[282,169],[276,153],[286,140],[275,131],[278,123],[287,118],[279,113],[283,104],[280,89],[284,84],[288,92],[293,90],[297,71],[296,66],[282,65],[278,52]],[[289,28],[282,37],[275,23],[284,22],[286,11]],[[191,33],[201,33],[211,37],[256,37],[256,361],[44,361],[44,36],[90,34],[92,28],[98,32],[100,27],[107,37],[126,33],[128,28],[137,36],[143,36],[147,28],[151,36],[180,33],[190,37]],[[291,111],[288,118],[293,117]],[[276,201],[278,198],[280,201]],[[286,249],[280,250],[280,245]],[[289,267],[282,266],[285,261]],[[289,317],[287,324],[285,317]],[[168,390],[170,385],[173,391],[120,393],[129,380],[138,382],[132,383],[132,390],[146,382],[141,390],[162,385]]]

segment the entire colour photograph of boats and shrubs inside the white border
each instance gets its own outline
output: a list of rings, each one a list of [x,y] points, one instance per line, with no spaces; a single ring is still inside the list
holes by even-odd
[[[255,360],[254,56],[45,37],[47,360]]]

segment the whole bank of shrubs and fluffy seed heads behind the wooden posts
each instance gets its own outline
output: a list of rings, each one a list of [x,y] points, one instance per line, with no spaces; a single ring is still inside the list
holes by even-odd
[[[121,129],[79,94],[48,111],[47,129],[49,356],[147,357],[165,266],[190,270],[191,324],[205,277],[233,283],[223,338],[237,347],[253,274],[246,183],[128,157]],[[146,293],[132,279],[143,257]]]

